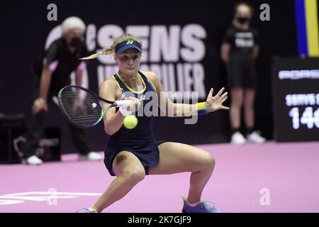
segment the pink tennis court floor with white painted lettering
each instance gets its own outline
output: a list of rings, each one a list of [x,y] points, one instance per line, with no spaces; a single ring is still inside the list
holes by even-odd
[[[319,143],[197,145],[216,157],[203,192],[223,212],[319,212]],[[102,153],[101,153],[102,154]],[[88,208],[108,187],[103,161],[45,165],[0,165],[0,212],[76,212]],[[103,212],[180,213],[189,173],[147,176]]]

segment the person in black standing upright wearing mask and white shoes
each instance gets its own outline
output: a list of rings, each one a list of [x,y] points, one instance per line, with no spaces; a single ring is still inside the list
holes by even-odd
[[[258,32],[250,27],[253,16],[252,6],[240,3],[235,6],[233,26],[226,31],[221,46],[220,57],[228,71],[230,89],[231,143],[264,143],[254,129],[254,96],[257,87],[255,59],[259,52]],[[244,109],[246,138],[240,133],[240,113]]]

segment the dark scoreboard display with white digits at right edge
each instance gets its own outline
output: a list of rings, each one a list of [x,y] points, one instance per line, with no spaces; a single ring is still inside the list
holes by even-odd
[[[276,141],[319,140],[319,58],[275,58],[272,98]]]

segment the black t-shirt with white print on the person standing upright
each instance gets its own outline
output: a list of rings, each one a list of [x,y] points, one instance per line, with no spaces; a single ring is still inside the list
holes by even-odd
[[[254,28],[240,30],[235,26],[228,28],[223,43],[230,44],[230,57],[252,57],[254,45],[259,44],[258,32]]]

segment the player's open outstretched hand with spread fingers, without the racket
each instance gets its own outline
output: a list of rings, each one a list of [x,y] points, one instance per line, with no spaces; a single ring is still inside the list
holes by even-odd
[[[225,109],[229,110],[229,107],[223,106],[223,102],[226,101],[228,98],[228,92],[225,92],[225,87],[220,89],[220,91],[216,94],[216,96],[213,96],[214,89],[212,88],[211,91],[208,94],[208,97],[206,99],[205,109],[208,112],[212,111],[218,111],[219,109]]]

